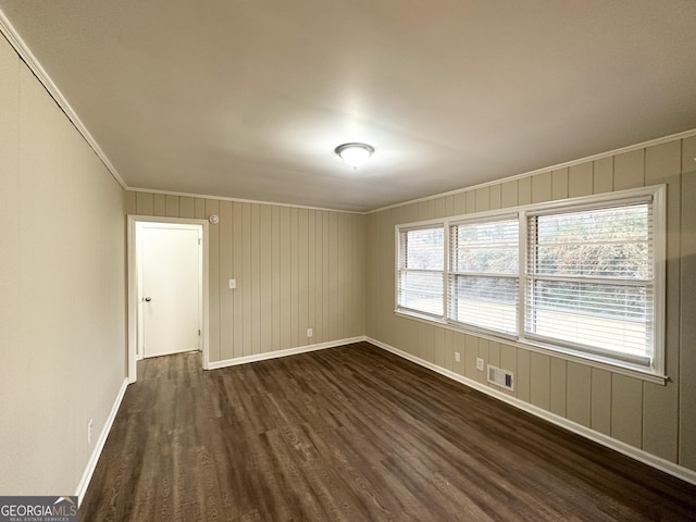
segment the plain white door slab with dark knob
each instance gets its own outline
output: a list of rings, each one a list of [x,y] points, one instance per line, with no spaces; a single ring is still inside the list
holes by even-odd
[[[200,226],[139,229],[142,357],[200,349]]]

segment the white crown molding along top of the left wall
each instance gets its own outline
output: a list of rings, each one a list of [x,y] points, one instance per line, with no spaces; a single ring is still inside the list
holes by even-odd
[[[49,96],[53,98],[53,101],[58,104],[58,107],[63,111],[65,116],[71,121],[71,123],[75,126],[77,132],[85,138],[87,145],[95,151],[97,157],[104,164],[107,170],[111,173],[114,179],[121,185],[121,187],[126,190],[128,186],[125,184],[116,167],[113,166],[107,154],[95,139],[95,137],[89,133],[85,124],[82,122],[77,113],[73,110],[71,104],[67,102],[63,94],[50,78],[48,73],[44,70],[39,61],[36,59],[32,50],[28,48],[26,42],[22,39],[20,34],[16,32],[12,23],[8,20],[7,15],[0,9],[0,33],[5,37],[8,42],[12,46],[15,52],[20,55],[20,59],[26,63],[29,67],[34,76],[41,83],[44,88],[47,90]]]

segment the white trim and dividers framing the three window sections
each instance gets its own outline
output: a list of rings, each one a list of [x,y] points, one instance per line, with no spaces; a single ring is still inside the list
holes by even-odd
[[[577,198],[568,198],[562,200],[547,201],[542,203],[532,203],[518,206],[513,208],[497,209],[485,212],[476,212],[470,214],[452,215],[449,217],[419,221],[412,223],[397,224],[395,226],[395,253],[396,253],[396,286],[395,286],[395,309],[394,312],[403,318],[423,321],[430,324],[437,324],[447,330],[456,332],[472,333],[483,338],[494,341],[510,344],[530,351],[537,351],[554,357],[560,357],[566,360],[582,362],[585,364],[598,366],[614,373],[622,373],[631,376],[637,376],[642,380],[664,384],[666,375],[666,247],[667,247],[667,207],[666,207],[666,185],[652,185],[647,187],[638,187],[626,190],[617,190],[613,192],[605,192],[600,195],[583,196]],[[582,211],[592,210],[601,207],[622,206],[631,202],[645,202],[651,200],[652,203],[652,286],[654,286],[654,310],[652,310],[652,358],[649,365],[642,365],[626,361],[611,353],[593,351],[592,349],[581,346],[573,347],[572,344],[554,344],[544,339],[535,339],[525,336],[525,303],[526,303],[526,279],[527,279],[527,219],[533,215],[554,214],[563,211]],[[607,204],[609,203],[609,204]],[[487,330],[485,327],[472,326],[448,319],[448,284],[451,275],[451,252],[449,251],[450,226],[462,223],[475,222],[494,222],[510,219],[517,214],[520,223],[519,234],[519,295],[518,295],[518,332],[517,335],[508,336],[504,333]],[[443,315],[427,315],[420,312],[413,312],[410,309],[399,307],[399,234],[406,229],[419,227],[444,227],[444,256],[445,271],[443,274]]]

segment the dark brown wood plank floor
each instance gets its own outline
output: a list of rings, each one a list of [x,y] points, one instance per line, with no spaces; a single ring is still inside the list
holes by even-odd
[[[92,521],[696,520],[692,486],[369,344],[138,363]]]

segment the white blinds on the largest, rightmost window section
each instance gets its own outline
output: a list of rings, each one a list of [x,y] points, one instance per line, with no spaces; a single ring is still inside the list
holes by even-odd
[[[525,335],[649,364],[652,222],[650,201],[529,215]]]

